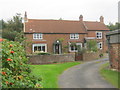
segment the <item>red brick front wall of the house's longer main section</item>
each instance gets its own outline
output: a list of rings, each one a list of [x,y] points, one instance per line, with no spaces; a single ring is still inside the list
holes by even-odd
[[[53,43],[60,38],[63,38],[62,46],[68,45],[70,41],[78,41],[83,43],[84,37],[86,34],[79,34],[79,39],[71,40],[70,34],[43,34],[43,40],[33,40],[33,34],[25,34],[27,41],[31,41],[31,43],[46,43],[47,44],[47,52],[53,52]],[[26,47],[27,53],[32,53],[32,45]]]

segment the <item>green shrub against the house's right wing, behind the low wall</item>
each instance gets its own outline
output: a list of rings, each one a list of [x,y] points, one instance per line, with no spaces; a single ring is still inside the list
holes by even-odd
[[[97,42],[95,40],[87,41],[87,50],[90,52],[97,52]]]

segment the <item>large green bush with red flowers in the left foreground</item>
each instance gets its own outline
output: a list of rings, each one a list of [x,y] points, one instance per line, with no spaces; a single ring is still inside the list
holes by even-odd
[[[19,42],[2,42],[2,87],[35,88],[41,87],[41,78],[31,75],[24,48]]]

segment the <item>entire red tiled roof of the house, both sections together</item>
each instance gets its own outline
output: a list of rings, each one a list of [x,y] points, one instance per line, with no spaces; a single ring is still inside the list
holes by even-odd
[[[104,23],[69,20],[28,19],[26,33],[86,33],[86,30],[109,30]]]

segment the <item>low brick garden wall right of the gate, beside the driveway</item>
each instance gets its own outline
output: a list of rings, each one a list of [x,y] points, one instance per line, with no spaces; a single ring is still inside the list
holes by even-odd
[[[85,53],[83,54],[83,61],[90,61],[90,60],[96,60],[99,57],[100,52],[95,52],[95,53]]]

